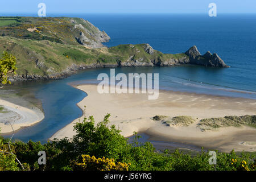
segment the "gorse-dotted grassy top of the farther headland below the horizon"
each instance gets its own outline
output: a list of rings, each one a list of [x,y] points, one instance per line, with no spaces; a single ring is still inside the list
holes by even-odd
[[[76,36],[79,36],[80,32],[83,32],[89,40],[97,42],[93,34],[99,31],[98,28],[80,18],[0,17],[0,22],[1,35],[20,39],[49,40],[71,45],[79,45]],[[79,24],[87,31],[81,27],[75,28],[75,25]],[[30,32],[28,28],[36,28],[36,30]]]

